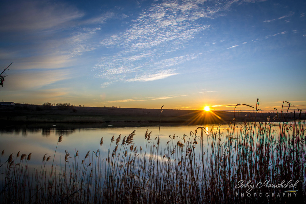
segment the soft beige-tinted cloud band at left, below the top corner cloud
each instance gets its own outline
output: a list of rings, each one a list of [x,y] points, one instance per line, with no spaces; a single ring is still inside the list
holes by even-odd
[[[99,28],[80,30],[69,37],[48,39],[20,46],[18,50],[0,50],[0,60],[13,61],[15,69],[59,69],[71,67],[75,64],[75,57],[96,49],[91,38]],[[46,35],[49,37],[49,35]],[[34,38],[34,36],[28,36]]]

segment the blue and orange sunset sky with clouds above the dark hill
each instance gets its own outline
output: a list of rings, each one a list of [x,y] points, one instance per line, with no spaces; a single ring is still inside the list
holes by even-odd
[[[5,0],[11,62],[5,102],[305,110],[306,2]]]

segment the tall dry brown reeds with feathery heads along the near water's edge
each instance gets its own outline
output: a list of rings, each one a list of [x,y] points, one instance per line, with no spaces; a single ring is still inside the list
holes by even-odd
[[[164,146],[151,139],[147,130],[144,146],[135,147],[135,130],[122,140],[121,135],[113,136],[107,158],[100,157],[105,142],[101,138],[98,150],[88,151],[82,161],[78,151],[66,151],[60,166],[48,164],[50,156],[44,155],[41,166],[33,168],[31,153],[19,158],[18,152],[5,160],[3,150],[0,202],[304,203],[306,130],[305,118],[298,117],[301,113],[298,109],[296,121],[285,121],[283,112],[257,123],[233,120],[226,132],[219,127],[207,132],[200,126],[189,135],[170,135]],[[55,153],[56,149],[54,157]],[[237,187],[242,180],[252,184],[298,181],[294,188],[260,188],[262,192],[297,192],[291,197],[241,196],[238,191],[247,191]]]

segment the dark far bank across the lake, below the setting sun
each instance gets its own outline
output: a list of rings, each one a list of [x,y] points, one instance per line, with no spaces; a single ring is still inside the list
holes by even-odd
[[[280,115],[280,114],[279,114]],[[104,123],[104,124],[161,124],[192,125],[228,123],[235,118],[237,121],[260,122],[267,118],[274,118],[275,113],[228,112],[203,110],[173,110],[164,109],[160,117],[159,109],[135,108],[96,108],[96,107],[65,107],[38,106],[16,104],[15,106],[0,107],[1,124],[23,123]],[[305,118],[298,113],[280,115],[286,120]]]

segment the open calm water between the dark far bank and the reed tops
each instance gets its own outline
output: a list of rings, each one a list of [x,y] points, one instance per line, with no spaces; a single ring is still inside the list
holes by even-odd
[[[32,165],[41,164],[42,158],[45,154],[51,156],[50,160],[52,162],[55,147],[57,145],[58,137],[63,135],[62,143],[58,143],[56,150],[56,156],[54,162],[59,164],[64,161],[65,150],[67,150],[71,155],[74,155],[77,150],[79,150],[80,159],[83,159],[86,153],[90,150],[91,152],[96,152],[100,148],[100,139],[103,137],[103,145],[100,149],[101,158],[107,158],[108,150],[114,150],[115,142],[111,143],[111,138],[118,138],[121,135],[121,141],[124,136],[128,136],[133,130],[136,130],[134,136],[134,147],[140,149],[140,146],[144,147],[145,133],[148,131],[151,133],[150,144],[153,146],[157,143],[158,135],[161,139],[160,147],[164,147],[168,140],[175,134],[175,143],[178,140],[182,140],[183,135],[188,141],[190,132],[195,133],[196,128],[199,126],[137,126],[137,127],[103,127],[103,128],[58,128],[57,126],[52,126],[48,128],[35,128],[35,127],[25,127],[25,128],[13,128],[5,127],[0,130],[0,151],[5,150],[2,156],[2,163],[4,159],[7,159],[10,154],[13,154],[16,159],[17,152],[20,154],[29,154],[32,152],[31,161]],[[207,132],[212,130],[216,131],[218,125],[203,125]],[[227,124],[219,126],[220,132],[226,132]],[[204,131],[205,131],[204,130]],[[200,130],[198,135],[201,134]],[[205,134],[204,134],[205,135]],[[193,139],[193,138],[192,138]],[[172,140],[173,141],[173,140]],[[121,142],[120,142],[121,144]],[[91,154],[92,155],[92,154]],[[20,158],[17,158],[20,159]]]

